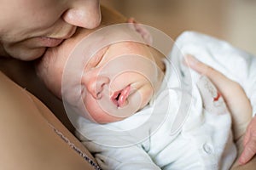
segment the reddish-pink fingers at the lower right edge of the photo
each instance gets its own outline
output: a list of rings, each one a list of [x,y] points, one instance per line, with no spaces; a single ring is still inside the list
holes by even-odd
[[[247,127],[247,132],[243,139],[243,147],[244,150],[239,157],[239,163],[241,165],[246,164],[256,154],[256,116],[253,117]]]

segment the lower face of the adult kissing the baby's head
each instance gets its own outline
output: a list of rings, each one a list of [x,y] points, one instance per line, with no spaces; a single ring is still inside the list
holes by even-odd
[[[37,59],[77,26],[92,29],[100,22],[99,0],[1,0],[0,56]]]

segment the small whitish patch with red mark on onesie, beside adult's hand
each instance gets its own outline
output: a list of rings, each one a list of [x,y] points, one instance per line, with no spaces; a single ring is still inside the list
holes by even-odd
[[[207,77],[202,76],[196,85],[201,93],[203,106],[208,112],[216,115],[228,113],[224,99]]]

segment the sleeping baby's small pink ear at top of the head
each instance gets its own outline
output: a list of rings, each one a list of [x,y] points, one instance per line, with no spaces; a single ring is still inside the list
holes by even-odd
[[[139,34],[141,34],[141,36],[143,37],[143,40],[148,44],[148,45],[152,45],[152,37],[151,34],[149,33],[149,31],[141,24],[138,24],[136,20],[134,20],[133,18],[129,18],[127,20],[128,23],[131,23],[132,28],[137,31]]]

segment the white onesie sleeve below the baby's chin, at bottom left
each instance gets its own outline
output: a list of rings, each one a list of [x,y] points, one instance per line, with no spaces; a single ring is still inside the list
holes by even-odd
[[[100,125],[82,117],[76,123],[76,136],[103,170],[160,169],[131,133],[114,128],[111,123]]]

